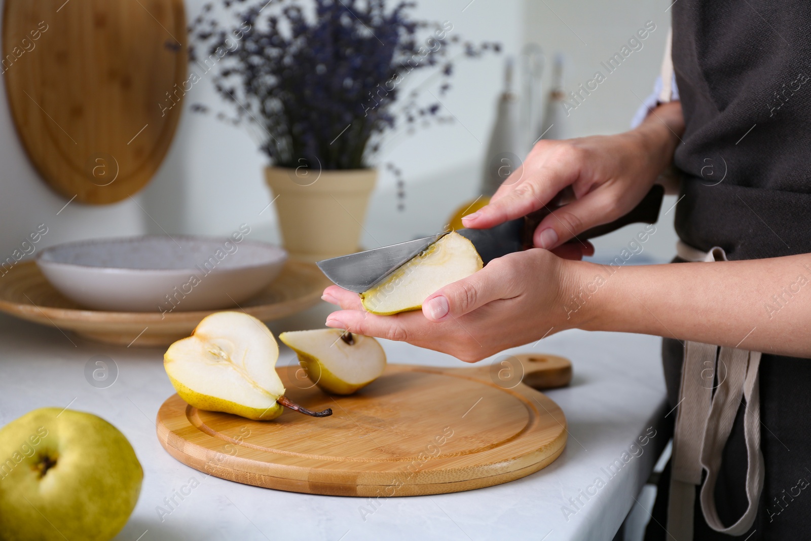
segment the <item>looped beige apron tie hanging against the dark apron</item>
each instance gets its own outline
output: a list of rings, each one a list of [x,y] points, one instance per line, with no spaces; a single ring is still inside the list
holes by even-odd
[[[757,503],[763,489],[763,453],[760,447],[760,389],[758,369],[761,354],[733,348],[721,348],[721,360],[728,363],[729,376],[715,391],[707,419],[702,452],[702,466],[707,478],[702,487],[702,511],[707,524],[729,535],[743,535],[752,527],[757,516]],[[723,526],[715,508],[715,482],[721,469],[723,446],[727,443],[732,423],[740,406],[740,394],[746,399],[744,412],[744,439],[746,441],[746,498],[749,506],[732,526]],[[721,395],[721,396],[719,396]]]

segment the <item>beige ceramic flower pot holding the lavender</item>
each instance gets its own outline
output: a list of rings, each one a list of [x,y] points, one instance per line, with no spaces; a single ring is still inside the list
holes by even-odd
[[[358,251],[376,170],[268,167],[265,178],[290,257],[318,261]]]

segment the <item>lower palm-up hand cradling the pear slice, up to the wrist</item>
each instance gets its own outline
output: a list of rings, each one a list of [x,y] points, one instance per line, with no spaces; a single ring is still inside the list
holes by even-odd
[[[533,248],[492,260],[485,268],[428,297],[423,311],[375,316],[358,294],[329,286],[324,300],[343,308],[328,327],[407,341],[472,363],[574,326],[564,301],[576,288],[571,261]]]

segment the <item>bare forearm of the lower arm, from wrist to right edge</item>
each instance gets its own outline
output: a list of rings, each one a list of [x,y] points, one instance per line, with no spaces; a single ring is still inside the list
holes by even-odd
[[[811,254],[616,267],[568,264],[564,310],[587,330],[811,357]]]

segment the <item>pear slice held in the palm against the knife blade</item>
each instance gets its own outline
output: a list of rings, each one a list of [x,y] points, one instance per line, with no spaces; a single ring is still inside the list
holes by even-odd
[[[367,311],[379,316],[419,310],[428,295],[482,267],[482,258],[473,243],[453,231],[360,294],[361,302]]]

